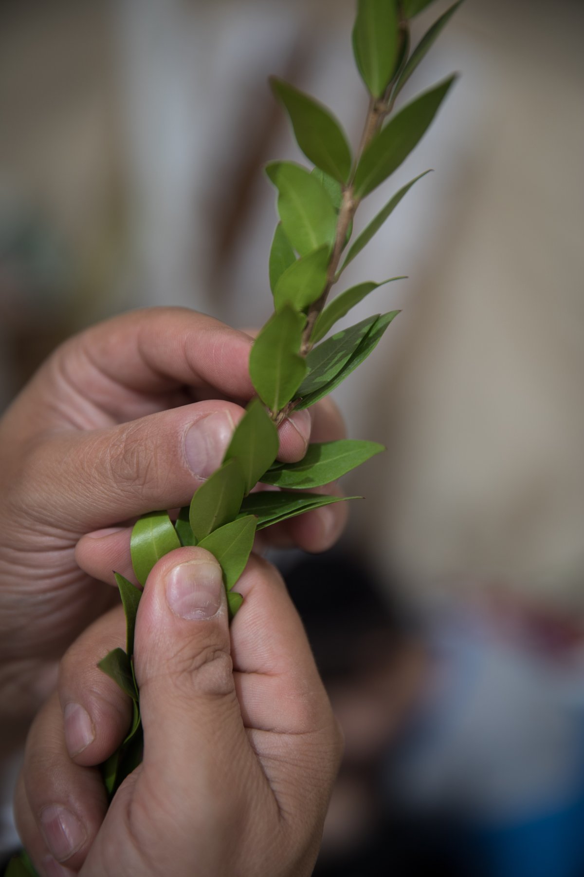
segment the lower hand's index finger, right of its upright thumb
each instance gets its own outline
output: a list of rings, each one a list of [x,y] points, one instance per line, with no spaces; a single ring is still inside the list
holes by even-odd
[[[339,725],[278,573],[252,557],[236,588],[231,655],[243,723],[281,812],[318,825],[341,762]]]

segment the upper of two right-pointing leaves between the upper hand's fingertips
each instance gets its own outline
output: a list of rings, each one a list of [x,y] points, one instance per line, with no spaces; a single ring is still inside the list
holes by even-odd
[[[287,463],[273,471],[268,470],[262,481],[264,484],[275,484],[278,488],[319,488],[323,484],[336,481],[384,450],[383,445],[375,441],[352,439],[309,445],[303,460]]]

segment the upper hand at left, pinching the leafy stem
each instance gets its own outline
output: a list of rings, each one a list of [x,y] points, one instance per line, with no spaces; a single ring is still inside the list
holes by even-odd
[[[133,580],[130,524],[186,505],[253,396],[250,336],[185,309],[133,311],[67,341],[0,421],[0,725],[21,737],[67,646]],[[279,429],[280,460],[341,438],[332,403]],[[275,537],[332,545],[345,503]],[[103,528],[106,528],[105,530]],[[133,580],[135,581],[135,580]],[[2,735],[0,735],[2,736]],[[8,749],[3,738],[0,744]]]

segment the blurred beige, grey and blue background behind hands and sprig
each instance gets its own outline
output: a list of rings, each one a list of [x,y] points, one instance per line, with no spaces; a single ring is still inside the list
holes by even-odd
[[[430,4],[414,42],[448,3]],[[266,85],[366,97],[352,0],[0,3],[0,410],[62,339],[178,304],[270,313]],[[342,544],[278,557],[347,755],[316,874],[584,875],[584,5],[467,0],[402,103],[461,79],[359,211],[344,286],[408,275],[335,392],[383,441]],[[337,588],[344,600],[328,595]]]

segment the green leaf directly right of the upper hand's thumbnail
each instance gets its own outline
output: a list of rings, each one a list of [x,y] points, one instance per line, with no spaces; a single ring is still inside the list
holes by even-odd
[[[235,458],[245,479],[245,493],[278,456],[278,430],[259,399],[252,399],[236,426],[223,462]]]

